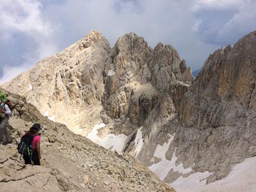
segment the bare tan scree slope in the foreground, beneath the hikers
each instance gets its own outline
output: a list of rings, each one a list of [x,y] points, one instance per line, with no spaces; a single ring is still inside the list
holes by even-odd
[[[42,127],[42,166],[20,161],[16,145],[0,146],[0,189],[7,191],[170,191],[154,173],[129,154],[117,154],[54,123],[24,97],[9,94],[15,104],[8,129],[13,138],[33,122]]]

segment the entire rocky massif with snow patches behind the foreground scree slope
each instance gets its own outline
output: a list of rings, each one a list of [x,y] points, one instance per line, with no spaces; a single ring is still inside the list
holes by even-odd
[[[232,168],[256,156],[255,34],[211,54],[193,79],[171,45],[152,49],[129,33],[111,48],[92,31],[3,87],[95,143],[132,154],[176,189],[191,191],[193,180],[207,190],[222,179],[215,190],[230,190]],[[243,177],[236,190],[255,190]]]

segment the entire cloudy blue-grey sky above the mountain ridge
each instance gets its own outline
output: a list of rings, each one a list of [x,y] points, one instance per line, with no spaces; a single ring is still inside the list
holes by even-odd
[[[135,32],[171,44],[196,70],[256,30],[255,0],[0,0],[0,83],[98,30],[113,46]]]

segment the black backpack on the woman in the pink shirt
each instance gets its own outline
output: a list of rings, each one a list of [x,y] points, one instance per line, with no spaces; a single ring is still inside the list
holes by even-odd
[[[17,147],[17,150],[19,154],[22,156],[31,156],[32,154],[32,143],[33,143],[33,138],[36,135],[31,135],[31,134],[24,134],[22,138],[20,139],[20,143]]]

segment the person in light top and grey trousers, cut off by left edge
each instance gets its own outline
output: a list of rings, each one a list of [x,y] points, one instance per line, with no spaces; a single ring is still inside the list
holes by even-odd
[[[8,120],[10,116],[12,115],[12,111],[10,110],[8,104],[4,103],[3,100],[0,100],[0,114],[1,114],[1,120],[0,120],[0,144],[8,144],[12,143],[12,137],[10,136],[10,132],[8,131],[6,124],[8,123]],[[4,142],[4,135],[6,137],[6,141]]]

